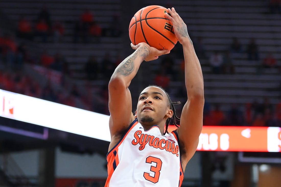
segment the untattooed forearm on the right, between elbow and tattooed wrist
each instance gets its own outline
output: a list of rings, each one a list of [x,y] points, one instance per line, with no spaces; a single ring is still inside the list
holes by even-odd
[[[187,90],[187,97],[204,98],[202,69],[190,39],[183,42],[183,54],[185,60],[185,87]]]

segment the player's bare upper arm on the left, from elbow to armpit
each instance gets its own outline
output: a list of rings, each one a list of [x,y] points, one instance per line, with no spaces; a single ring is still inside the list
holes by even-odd
[[[109,129],[110,134],[115,135],[130,126],[133,120],[132,97],[130,90],[118,80],[109,83],[108,91]]]

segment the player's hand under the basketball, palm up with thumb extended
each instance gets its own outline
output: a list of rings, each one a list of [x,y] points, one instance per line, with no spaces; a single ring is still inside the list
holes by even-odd
[[[141,42],[137,45],[134,45],[131,43],[132,49],[138,49],[139,47],[141,48],[140,53],[141,55],[144,56],[144,61],[151,61],[151,60],[156,60],[159,56],[163,54],[168,54],[170,53],[169,50],[163,49],[163,50],[158,50],[155,47],[150,47],[148,44]]]

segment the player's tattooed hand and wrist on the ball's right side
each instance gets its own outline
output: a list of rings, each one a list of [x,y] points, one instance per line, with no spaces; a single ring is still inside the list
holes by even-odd
[[[183,22],[182,18],[178,15],[175,8],[168,8],[168,11],[169,13],[166,12],[165,16],[172,22],[174,32],[176,37],[178,38],[178,41],[181,44],[183,44],[185,41],[191,42],[190,37],[187,33],[187,26]]]

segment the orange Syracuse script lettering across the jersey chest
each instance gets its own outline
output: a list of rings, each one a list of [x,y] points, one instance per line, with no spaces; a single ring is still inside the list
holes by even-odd
[[[132,140],[132,144],[139,144],[139,150],[143,150],[144,147],[148,145],[161,150],[165,149],[166,151],[178,156],[179,147],[178,145],[175,145],[173,140],[160,139],[149,134],[143,134],[140,130],[135,132],[134,137],[135,138]]]

